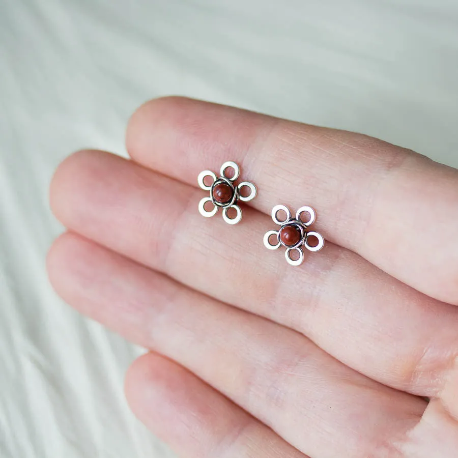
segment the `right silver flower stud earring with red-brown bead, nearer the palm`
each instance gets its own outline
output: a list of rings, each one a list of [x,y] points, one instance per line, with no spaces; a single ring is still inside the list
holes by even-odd
[[[283,221],[278,219],[278,212],[283,211],[286,213],[286,218]],[[301,220],[302,213],[308,213],[310,218],[307,222]],[[315,211],[311,207],[301,207],[297,213],[296,218],[293,218],[291,211],[285,205],[276,205],[272,209],[272,219],[274,223],[280,226],[278,231],[268,231],[264,235],[264,245],[270,250],[276,250],[281,245],[286,248],[284,256],[289,264],[292,266],[300,266],[304,262],[304,252],[302,246],[305,246],[309,251],[319,251],[324,246],[324,238],[321,234],[314,231],[309,231],[308,228],[313,224],[316,219]],[[275,236],[276,242],[274,245],[270,243],[270,238]],[[310,245],[309,238],[316,237],[318,239],[317,245]],[[297,260],[293,260],[291,254],[296,250],[299,254]]]

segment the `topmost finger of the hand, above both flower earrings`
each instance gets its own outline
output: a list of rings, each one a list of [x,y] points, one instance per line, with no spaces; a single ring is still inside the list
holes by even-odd
[[[193,186],[202,170],[233,160],[259,189],[250,205],[267,214],[277,204],[310,205],[327,240],[458,304],[454,169],[363,135],[184,98],[137,110],[127,148],[139,163]]]

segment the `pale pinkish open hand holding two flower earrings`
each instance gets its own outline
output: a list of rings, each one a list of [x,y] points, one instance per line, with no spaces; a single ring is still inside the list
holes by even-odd
[[[126,396],[184,458],[452,458],[458,450],[458,171],[351,132],[168,97],[131,160],[81,151],[51,183],[58,294],[150,352]],[[259,193],[197,212],[226,160]],[[326,239],[265,249],[283,203]],[[427,402],[427,398],[431,399]]]

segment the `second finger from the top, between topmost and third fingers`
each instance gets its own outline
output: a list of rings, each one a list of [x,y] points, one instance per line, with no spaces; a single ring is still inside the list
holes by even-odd
[[[199,191],[107,153],[67,160],[52,184],[60,220],[223,302],[304,333],[361,373],[422,396],[455,396],[458,309],[416,292],[329,243],[300,269],[256,235],[270,218],[211,224]],[[261,238],[260,238],[261,239]],[[247,249],[248,248],[248,249]],[[345,345],[342,345],[345,342]]]

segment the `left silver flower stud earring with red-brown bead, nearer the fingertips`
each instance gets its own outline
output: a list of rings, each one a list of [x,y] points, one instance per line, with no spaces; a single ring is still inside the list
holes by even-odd
[[[228,177],[226,175],[226,170],[228,168],[234,169],[234,175]],[[243,181],[237,186],[235,181],[239,178],[240,168],[239,166],[232,161],[224,162],[221,165],[220,177],[216,178],[216,175],[211,170],[202,171],[197,177],[197,182],[199,186],[205,191],[210,191],[210,197],[204,197],[199,202],[199,213],[206,218],[209,218],[215,215],[220,208],[222,208],[222,217],[227,224],[237,224],[242,219],[242,210],[237,205],[239,201],[248,202],[251,201],[256,196],[256,187],[253,183],[248,181]],[[212,183],[205,184],[204,180],[206,177],[211,177]],[[247,196],[242,196],[240,190],[243,187],[248,187],[250,193]],[[206,210],[205,205],[211,202],[213,208],[211,210]],[[234,208],[237,211],[235,218],[230,218],[227,215],[227,211],[230,208]]]

